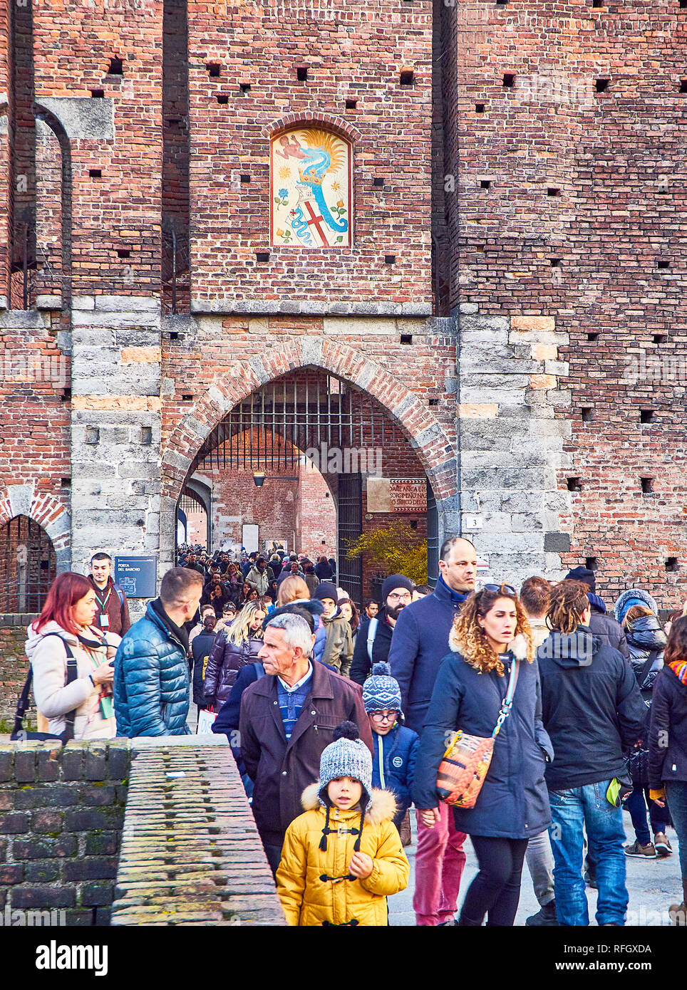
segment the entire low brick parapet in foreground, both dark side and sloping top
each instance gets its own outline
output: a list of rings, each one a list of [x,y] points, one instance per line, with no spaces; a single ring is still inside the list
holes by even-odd
[[[67,926],[285,924],[216,736],[0,745],[7,909]]]

